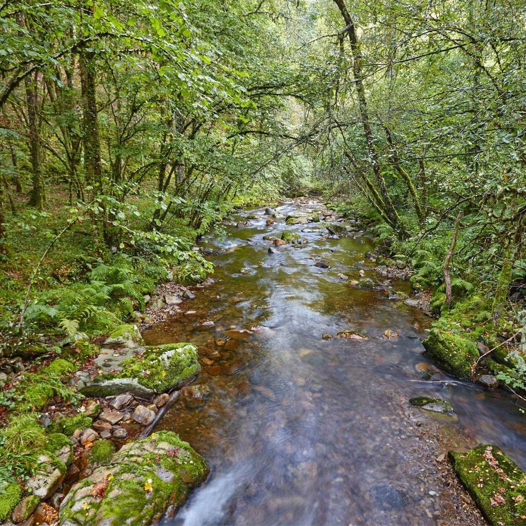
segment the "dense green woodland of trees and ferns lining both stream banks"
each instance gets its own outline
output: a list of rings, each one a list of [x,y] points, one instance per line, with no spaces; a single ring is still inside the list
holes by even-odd
[[[7,0],[0,23],[6,357],[133,320],[205,279],[191,247],[233,209],[311,194],[524,388],[523,3]]]

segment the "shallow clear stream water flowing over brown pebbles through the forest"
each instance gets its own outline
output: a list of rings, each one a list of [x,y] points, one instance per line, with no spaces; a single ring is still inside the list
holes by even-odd
[[[319,203],[277,211],[313,208]],[[265,219],[207,237],[202,246],[216,250],[214,283],[145,332],[147,343],[194,342],[202,360],[197,398],[180,396],[156,429],[179,433],[211,473],[165,524],[481,522],[462,508],[466,497],[447,459],[436,457],[493,442],[526,468],[517,407],[469,382],[422,380],[420,342],[431,320],[389,299],[387,288],[410,286],[373,270],[364,257],[371,238],[327,238],[313,224],[266,226]],[[284,229],[301,232],[306,244],[269,254],[274,245],[263,236]],[[320,257],[330,268],[314,266]],[[350,283],[360,270],[375,289]],[[388,340],[386,329],[399,337]],[[322,339],[343,330],[369,339]],[[413,396],[449,400],[458,421],[410,407]]]

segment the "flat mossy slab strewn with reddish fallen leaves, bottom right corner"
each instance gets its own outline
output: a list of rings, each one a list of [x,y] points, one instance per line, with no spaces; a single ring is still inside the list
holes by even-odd
[[[526,524],[526,474],[498,446],[450,451],[449,457],[490,524]]]

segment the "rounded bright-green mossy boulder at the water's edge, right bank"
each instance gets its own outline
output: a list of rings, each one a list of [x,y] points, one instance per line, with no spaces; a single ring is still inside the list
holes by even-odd
[[[472,368],[479,358],[475,343],[451,332],[433,329],[422,344],[426,348],[424,355],[444,371],[457,378],[471,378]]]

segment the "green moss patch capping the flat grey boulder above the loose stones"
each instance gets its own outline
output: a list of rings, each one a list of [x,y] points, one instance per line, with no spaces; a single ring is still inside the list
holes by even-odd
[[[141,386],[156,392],[173,388],[199,372],[197,347],[191,343],[149,346],[141,358],[128,358],[114,378],[136,378]],[[145,374],[145,371],[149,371]]]

